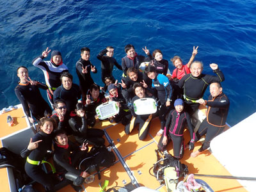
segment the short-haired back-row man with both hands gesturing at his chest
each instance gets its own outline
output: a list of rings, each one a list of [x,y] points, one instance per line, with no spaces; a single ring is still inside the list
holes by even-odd
[[[90,49],[83,47],[81,48],[81,58],[76,62],[76,74],[79,79],[83,99],[86,97],[90,86],[94,83],[91,77],[91,71],[97,73],[97,68],[90,61]]]

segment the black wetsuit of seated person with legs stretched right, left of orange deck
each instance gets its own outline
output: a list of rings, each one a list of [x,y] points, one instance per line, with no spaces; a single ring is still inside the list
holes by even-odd
[[[72,128],[73,135],[80,143],[89,143],[92,145],[103,145],[105,140],[102,138],[104,131],[101,129],[88,129],[85,117],[74,115],[68,120]]]

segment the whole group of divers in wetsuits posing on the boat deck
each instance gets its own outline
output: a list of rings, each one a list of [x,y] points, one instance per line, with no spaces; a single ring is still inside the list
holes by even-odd
[[[45,173],[41,165],[45,161],[47,152],[54,143],[54,165],[59,178],[66,180],[76,191],[81,191],[81,184],[89,173],[77,169],[77,163],[88,152],[87,145],[104,145],[104,131],[95,129],[95,109],[100,104],[113,100],[119,107],[119,113],[109,118],[124,125],[126,134],[130,134],[136,125],[139,125],[139,140],[145,140],[150,129],[150,120],[158,116],[161,129],[157,136],[161,136],[158,148],[166,150],[170,141],[173,143],[173,154],[181,159],[184,150],[194,149],[194,143],[205,135],[205,141],[199,150],[191,153],[191,157],[198,156],[209,148],[210,141],[225,128],[229,100],[222,92],[220,82],[224,76],[218,65],[211,63],[214,76],[203,74],[203,63],[193,61],[198,47],[193,47],[190,60],[186,65],[179,56],[172,58],[175,69],[172,75],[168,74],[168,61],[156,49],[150,54],[145,47],[147,56],[136,53],[134,46],[125,46],[126,55],[122,58],[122,65],[113,58],[114,49],[111,46],[99,52],[97,58],[101,61],[101,79],[104,87],[94,83],[91,72],[97,73],[97,68],[90,62],[90,49],[81,49],[81,58],[76,63],[76,74],[79,85],[73,83],[73,77],[68,67],[63,63],[60,51],[47,49],[42,55],[33,60],[33,65],[44,72],[46,84],[33,81],[29,78],[28,68],[19,67],[17,76],[19,84],[15,94],[22,107],[33,123],[39,123],[38,132],[29,141],[28,147],[20,152],[26,158],[26,173],[36,182],[45,187],[46,191],[57,191],[61,188],[54,179]],[[45,58],[51,52],[51,60]],[[140,64],[147,62],[148,66],[140,70]],[[123,71],[122,80],[118,83],[113,77],[114,65]],[[209,99],[202,99],[210,85]],[[51,107],[43,99],[39,88],[47,91],[47,98]],[[157,103],[155,114],[136,115],[133,102],[137,99],[153,98]],[[191,116],[198,110],[200,104],[207,106],[207,117],[194,131]],[[53,109],[53,110],[52,110]],[[96,117],[97,118],[97,117]],[[184,128],[188,126],[191,140],[184,145]],[[90,129],[88,128],[90,127]],[[73,135],[76,143],[68,140]],[[79,146],[80,145],[80,146]]]

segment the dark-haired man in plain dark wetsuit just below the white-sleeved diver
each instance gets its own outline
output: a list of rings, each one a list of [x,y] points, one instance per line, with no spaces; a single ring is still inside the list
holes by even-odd
[[[63,99],[67,105],[67,114],[70,115],[76,109],[77,102],[81,102],[81,90],[77,84],[72,83],[73,76],[70,73],[63,72],[60,79],[62,85],[55,90],[53,100]]]

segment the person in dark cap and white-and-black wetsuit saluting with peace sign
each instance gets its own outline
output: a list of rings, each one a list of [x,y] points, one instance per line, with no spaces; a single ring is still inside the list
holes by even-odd
[[[36,57],[32,64],[44,72],[45,83],[48,86],[47,98],[53,105],[53,92],[61,86],[60,76],[62,72],[68,71],[68,67],[63,63],[60,51],[52,51],[51,61],[43,61],[48,56],[51,49],[47,47],[41,56]]]

